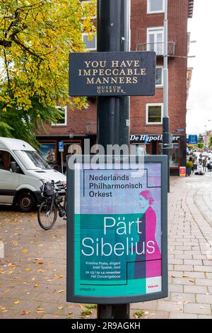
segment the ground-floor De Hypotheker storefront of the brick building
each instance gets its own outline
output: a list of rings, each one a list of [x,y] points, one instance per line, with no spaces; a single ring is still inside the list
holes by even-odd
[[[136,154],[163,154],[163,135],[131,135],[131,145],[136,145]],[[186,165],[187,137],[186,135],[173,135],[170,145],[170,174],[179,176],[179,167]]]

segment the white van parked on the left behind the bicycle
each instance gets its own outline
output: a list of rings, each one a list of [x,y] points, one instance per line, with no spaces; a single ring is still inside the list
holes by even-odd
[[[42,184],[52,180],[64,194],[64,174],[52,169],[27,142],[0,137],[0,204],[30,212],[42,201]]]

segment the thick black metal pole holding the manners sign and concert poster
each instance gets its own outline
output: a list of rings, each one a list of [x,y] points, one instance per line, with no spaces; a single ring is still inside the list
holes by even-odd
[[[130,0],[97,0],[99,52],[129,51]],[[98,97],[98,144],[129,145],[129,97]],[[129,304],[98,305],[98,318],[129,319]]]

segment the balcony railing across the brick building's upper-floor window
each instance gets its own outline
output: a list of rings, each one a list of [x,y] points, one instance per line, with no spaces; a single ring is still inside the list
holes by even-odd
[[[163,55],[164,43],[142,43],[136,45],[136,51],[155,51],[156,55]],[[175,56],[175,42],[167,43],[169,57]]]

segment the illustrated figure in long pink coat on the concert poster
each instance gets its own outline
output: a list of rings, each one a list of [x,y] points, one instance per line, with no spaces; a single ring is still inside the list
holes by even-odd
[[[151,278],[161,276],[161,254],[155,239],[156,214],[151,191],[139,193],[139,205],[142,209],[139,244],[137,244],[134,278]],[[143,245],[145,244],[145,246]]]

